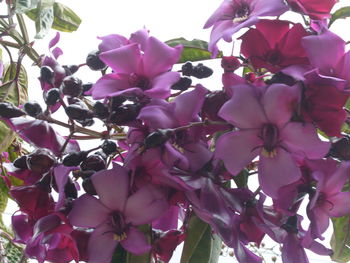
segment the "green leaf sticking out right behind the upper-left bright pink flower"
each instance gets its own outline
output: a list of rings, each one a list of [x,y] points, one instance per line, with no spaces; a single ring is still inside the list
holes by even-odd
[[[193,39],[191,41],[186,40],[184,38],[175,38],[165,42],[167,45],[171,47],[175,47],[177,45],[183,45],[183,51],[181,53],[180,59],[177,63],[185,63],[186,61],[201,61],[212,59],[211,53],[208,51],[208,42]],[[216,58],[221,58],[222,52],[219,51],[219,54]]]

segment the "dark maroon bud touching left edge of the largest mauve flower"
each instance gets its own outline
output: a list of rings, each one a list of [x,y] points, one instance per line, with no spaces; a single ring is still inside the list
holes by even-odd
[[[218,112],[222,105],[228,100],[228,97],[223,91],[213,91],[205,96],[202,107],[202,118],[209,120],[222,120],[218,116]]]

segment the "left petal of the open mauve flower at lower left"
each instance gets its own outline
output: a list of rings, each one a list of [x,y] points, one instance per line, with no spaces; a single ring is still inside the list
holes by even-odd
[[[74,201],[68,218],[74,226],[96,227],[107,220],[110,212],[97,198],[84,194]]]

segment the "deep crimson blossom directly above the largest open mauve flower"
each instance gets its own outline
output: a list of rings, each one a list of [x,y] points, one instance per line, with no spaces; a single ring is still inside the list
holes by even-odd
[[[251,28],[240,37],[241,53],[254,68],[266,68],[273,73],[290,65],[308,64],[301,45],[301,39],[308,33],[301,24],[291,28],[289,25],[289,21],[261,20],[256,29]]]

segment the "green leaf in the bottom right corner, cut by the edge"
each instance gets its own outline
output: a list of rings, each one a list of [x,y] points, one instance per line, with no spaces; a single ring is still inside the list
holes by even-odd
[[[332,260],[346,263],[350,260],[350,216],[332,218],[333,235],[331,248],[333,249]]]

